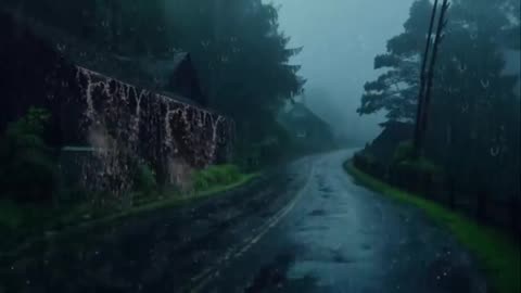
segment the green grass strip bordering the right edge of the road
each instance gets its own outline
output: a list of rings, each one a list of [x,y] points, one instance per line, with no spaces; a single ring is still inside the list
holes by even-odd
[[[412,204],[421,208],[435,222],[446,227],[467,250],[476,256],[492,282],[494,292],[521,292],[519,242],[439,203],[403,191],[365,174],[357,169],[351,161],[344,163],[344,168],[365,187],[394,200]]]

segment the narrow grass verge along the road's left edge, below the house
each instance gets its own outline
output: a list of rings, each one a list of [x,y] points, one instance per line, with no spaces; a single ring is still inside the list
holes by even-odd
[[[260,176],[256,174],[240,174],[233,181],[208,184],[204,189],[187,194],[166,194],[155,200],[140,201],[124,209],[100,211],[91,213],[87,205],[75,206],[72,211],[62,212],[51,207],[36,205],[18,205],[10,201],[0,201],[0,255],[15,254],[38,239],[66,234],[76,229],[94,227],[138,216],[161,208],[174,208],[196,201],[227,194],[227,191],[245,186]],[[86,217],[86,215],[89,215]],[[14,251],[13,251],[14,250]]]

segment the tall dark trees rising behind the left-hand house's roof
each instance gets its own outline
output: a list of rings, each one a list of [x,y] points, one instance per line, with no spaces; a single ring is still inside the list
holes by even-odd
[[[176,52],[189,52],[205,106],[236,120],[238,161],[258,167],[290,153],[290,137],[276,119],[303,90],[300,66],[290,64],[302,48],[289,48],[272,4],[260,0],[2,1],[15,14],[88,43],[90,50],[155,60],[158,73],[167,71],[162,61],[167,64]]]

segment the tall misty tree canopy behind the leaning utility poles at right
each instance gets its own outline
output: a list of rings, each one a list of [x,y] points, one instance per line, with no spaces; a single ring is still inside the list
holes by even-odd
[[[519,31],[519,1],[452,2],[428,110],[427,153],[454,176],[475,180],[496,170],[492,184],[511,187],[520,174],[520,98],[519,76],[505,73],[505,51],[519,50],[512,33]],[[390,120],[414,120],[431,10],[429,0],[415,1],[405,31],[374,59],[384,72],[365,85],[359,114],[384,111]]]

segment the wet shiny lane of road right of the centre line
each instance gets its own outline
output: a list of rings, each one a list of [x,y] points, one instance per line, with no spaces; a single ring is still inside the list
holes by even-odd
[[[422,213],[355,184],[353,151],[292,169],[307,177],[254,245],[192,292],[487,292],[472,258]]]

